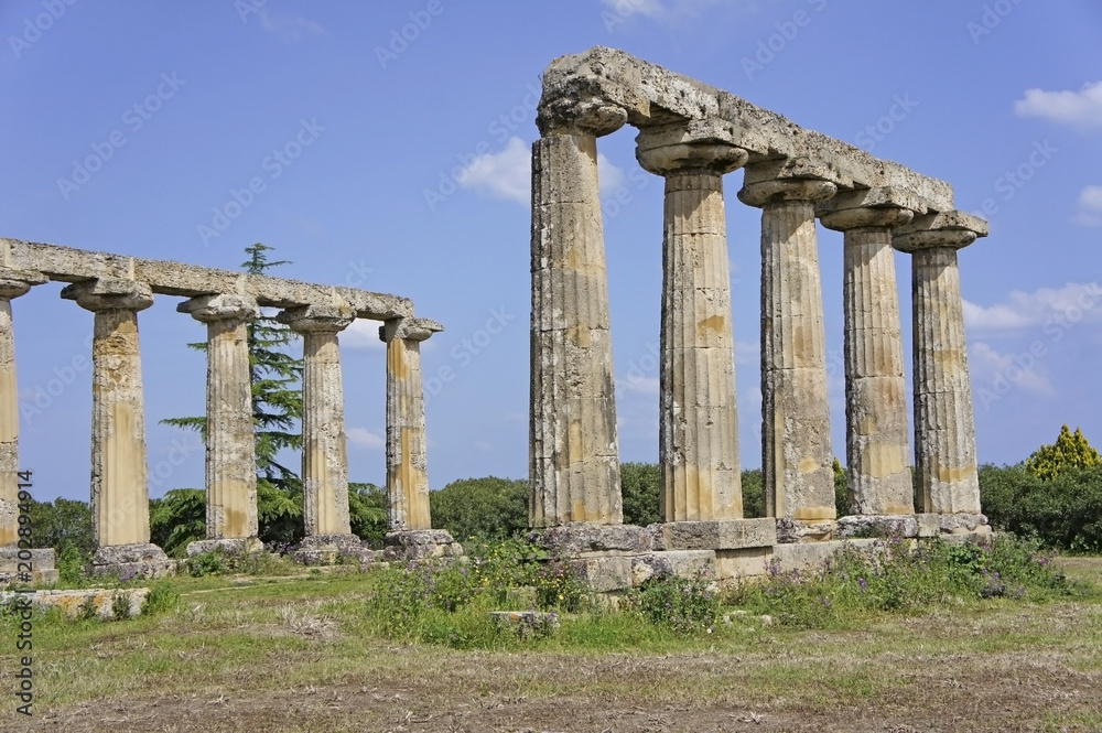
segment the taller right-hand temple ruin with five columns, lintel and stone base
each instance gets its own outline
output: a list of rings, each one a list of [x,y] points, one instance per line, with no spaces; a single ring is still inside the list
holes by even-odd
[[[761,572],[869,525],[986,531],[957,250],[987,234],[952,187],[612,48],[554,61],[532,147],[530,517],[614,590],[656,569]],[[666,180],[663,524],[622,524],[597,138],[638,130]],[[761,209],[766,519],[744,519],[723,176]],[[815,220],[844,233],[846,463],[835,516]],[[911,255],[915,511],[893,249]],[[750,316],[752,317],[752,316]]]

